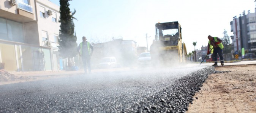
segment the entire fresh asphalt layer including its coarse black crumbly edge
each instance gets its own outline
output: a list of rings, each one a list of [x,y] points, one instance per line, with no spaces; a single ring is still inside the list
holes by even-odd
[[[184,113],[214,67],[77,75],[0,86],[0,113]]]

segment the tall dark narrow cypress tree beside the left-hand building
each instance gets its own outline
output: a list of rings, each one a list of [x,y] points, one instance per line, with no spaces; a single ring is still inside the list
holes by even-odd
[[[69,63],[71,63],[70,58],[73,58],[77,55],[77,43],[76,35],[74,35],[74,22],[73,15],[76,13],[70,11],[69,3],[70,0],[60,0],[60,38],[59,42],[59,52],[62,58],[69,58]],[[69,64],[70,66],[70,64]]]

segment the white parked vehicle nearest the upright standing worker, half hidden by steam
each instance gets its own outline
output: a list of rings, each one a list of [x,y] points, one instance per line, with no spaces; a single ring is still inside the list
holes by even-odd
[[[117,60],[115,57],[104,57],[98,64],[98,68],[115,68],[117,67]]]

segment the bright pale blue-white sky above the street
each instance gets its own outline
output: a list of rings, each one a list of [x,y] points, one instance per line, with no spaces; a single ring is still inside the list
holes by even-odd
[[[49,0],[59,5],[59,0]],[[155,39],[155,24],[179,21],[182,41],[188,53],[207,46],[208,35],[223,37],[224,29],[233,35],[230,21],[248,10],[255,12],[255,0],[72,0],[77,43],[86,36],[89,42],[114,38],[134,40],[137,46],[148,46]]]

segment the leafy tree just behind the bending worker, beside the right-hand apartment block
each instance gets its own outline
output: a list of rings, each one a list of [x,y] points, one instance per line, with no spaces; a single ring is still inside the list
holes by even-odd
[[[221,38],[222,40],[222,44],[224,46],[223,48],[223,53],[224,54],[227,54],[227,53],[231,53],[231,50],[232,50],[232,44],[230,43],[230,39],[229,39],[229,36],[227,34],[227,31],[224,29],[224,37]]]

